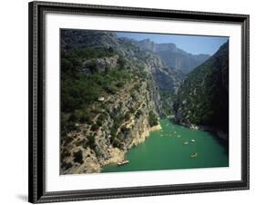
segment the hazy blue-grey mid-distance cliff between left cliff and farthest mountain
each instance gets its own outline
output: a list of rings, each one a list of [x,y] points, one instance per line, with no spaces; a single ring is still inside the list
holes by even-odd
[[[165,61],[157,54],[159,51],[169,49],[175,51],[178,48],[175,44],[154,44],[149,40],[135,41],[128,38],[121,38],[121,42],[133,45],[136,48],[136,56],[139,56],[141,63],[147,63],[149,73],[151,73],[155,85],[158,88],[159,96],[156,96],[157,103],[160,102],[160,115],[171,115],[174,95],[178,92],[180,84],[183,82],[185,74],[178,69],[169,67]],[[127,45],[126,45],[127,46]],[[180,50],[181,51],[181,50]]]

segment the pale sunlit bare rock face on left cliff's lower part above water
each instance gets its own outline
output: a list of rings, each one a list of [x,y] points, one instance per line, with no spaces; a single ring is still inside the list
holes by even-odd
[[[79,130],[67,135],[71,142],[62,144],[64,157],[62,173],[100,172],[101,167],[110,162],[124,160],[124,154],[132,146],[144,142],[150,130],[148,112],[156,111],[147,83],[142,82],[137,89],[130,83],[117,94],[108,96],[102,102],[104,109],[93,119],[103,119],[97,129],[92,125],[79,124]],[[90,138],[94,143],[90,144]],[[80,151],[81,161],[74,161]]]

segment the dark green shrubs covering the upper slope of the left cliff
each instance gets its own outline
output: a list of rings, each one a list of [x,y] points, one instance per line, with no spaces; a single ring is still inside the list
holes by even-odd
[[[92,110],[91,103],[97,105],[97,99],[115,94],[128,83],[131,74],[122,69],[124,60],[118,60],[116,67],[104,73],[83,71],[83,59],[112,56],[108,49],[69,50],[61,58],[61,122],[62,131],[75,130],[76,123],[91,124],[92,118],[100,112],[97,107]],[[122,59],[122,58],[121,58]],[[93,70],[93,68],[92,68]],[[101,106],[104,106],[101,104]],[[96,125],[94,125],[95,127]]]

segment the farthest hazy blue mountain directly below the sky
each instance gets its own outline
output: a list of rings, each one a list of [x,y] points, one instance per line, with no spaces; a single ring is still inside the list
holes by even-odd
[[[149,39],[139,41],[138,45],[144,51],[158,54],[169,68],[175,68],[182,73],[191,72],[210,57],[208,54],[189,54],[175,44],[155,44]]]

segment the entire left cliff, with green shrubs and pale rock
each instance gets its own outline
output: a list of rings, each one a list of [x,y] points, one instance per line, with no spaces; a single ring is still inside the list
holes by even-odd
[[[157,55],[113,33],[62,30],[61,40],[61,174],[100,172],[145,141],[162,114],[159,86],[176,82]]]

